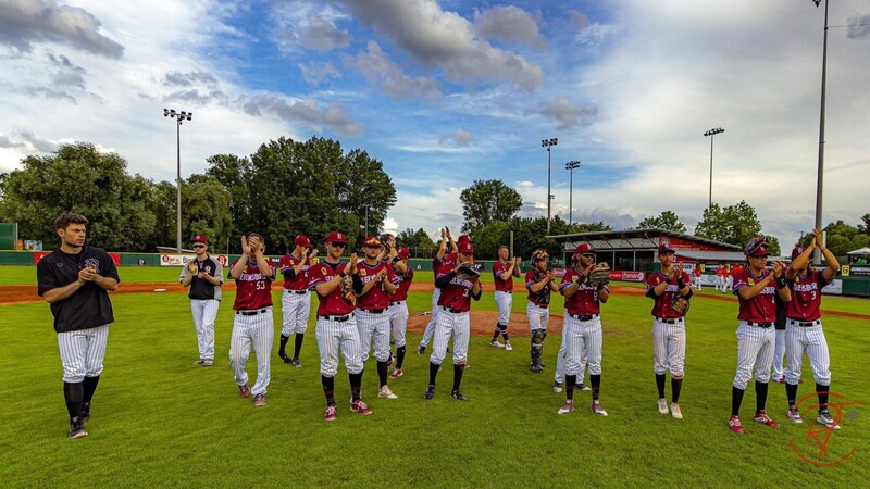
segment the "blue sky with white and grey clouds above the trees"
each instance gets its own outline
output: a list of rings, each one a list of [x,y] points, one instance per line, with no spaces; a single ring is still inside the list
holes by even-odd
[[[0,0],[0,172],[59,143],[183,176],[281,136],[384,163],[398,229],[459,228],[497,178],[634,227],[746,200],[784,248],[816,212],[824,9],[811,0]],[[870,212],[870,1],[831,4],[823,221]],[[863,66],[863,67],[861,67]]]

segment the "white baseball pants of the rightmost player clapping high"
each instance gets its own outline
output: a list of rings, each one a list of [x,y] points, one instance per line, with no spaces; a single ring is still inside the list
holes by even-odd
[[[785,379],[788,384],[800,380],[804,352],[807,353],[812,377],[822,386],[831,385],[831,358],[828,353],[828,341],[824,339],[822,322],[815,321],[816,326],[801,327],[792,319],[785,322],[785,352],[788,356],[788,366]]]

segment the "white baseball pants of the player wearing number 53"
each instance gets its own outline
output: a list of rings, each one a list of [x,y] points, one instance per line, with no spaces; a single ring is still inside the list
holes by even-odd
[[[245,365],[248,363],[251,346],[253,346],[253,354],[257,356],[257,383],[251,387],[251,393],[264,394],[272,376],[270,358],[272,342],[275,339],[272,308],[258,309],[259,314],[250,316],[244,315],[241,312],[248,311],[236,311],[233,335],[229,338],[229,366],[235,374],[236,384],[239,386],[248,384]]]

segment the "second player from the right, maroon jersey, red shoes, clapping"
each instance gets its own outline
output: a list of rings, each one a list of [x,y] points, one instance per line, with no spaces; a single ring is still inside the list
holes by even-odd
[[[749,240],[743,249],[747,266],[734,276],[734,294],[739,300],[737,318],[737,372],[731,389],[731,418],[728,422],[732,431],[743,435],[741,424],[741,403],[746,386],[755,368],[756,411],[754,421],[776,428],[779,423],[768,416],[765,404],[768,398],[768,380],[773,363],[776,321],[774,294],[788,302],[792,294],[785,284],[782,264],[772,263],[767,269],[768,242],[763,236]]]

